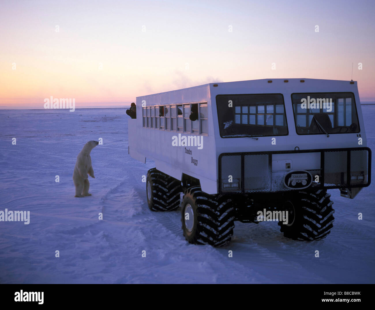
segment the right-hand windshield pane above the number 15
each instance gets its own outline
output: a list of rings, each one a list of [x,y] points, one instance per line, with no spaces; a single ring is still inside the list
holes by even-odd
[[[353,93],[292,94],[297,134],[359,132]]]

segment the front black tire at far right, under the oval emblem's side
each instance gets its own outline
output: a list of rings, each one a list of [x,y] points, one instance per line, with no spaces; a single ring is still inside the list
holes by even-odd
[[[290,218],[289,214],[288,224],[279,221],[280,231],[293,240],[313,241],[326,238],[335,220],[330,196],[326,190],[291,194],[284,206],[294,217]]]

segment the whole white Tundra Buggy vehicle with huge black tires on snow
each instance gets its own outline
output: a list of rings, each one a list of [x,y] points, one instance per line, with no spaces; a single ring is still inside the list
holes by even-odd
[[[210,83],[137,97],[129,154],[155,162],[148,206],[181,206],[193,244],[222,246],[234,221],[275,218],[287,238],[322,239],[335,212],[327,190],[353,199],[371,181],[355,81]]]

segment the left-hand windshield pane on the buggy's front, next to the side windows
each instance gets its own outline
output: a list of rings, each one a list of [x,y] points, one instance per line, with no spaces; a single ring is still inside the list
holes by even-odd
[[[282,94],[217,95],[220,136],[287,135]]]

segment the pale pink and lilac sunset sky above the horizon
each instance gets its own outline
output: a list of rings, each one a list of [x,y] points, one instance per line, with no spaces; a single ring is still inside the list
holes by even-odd
[[[352,63],[361,101],[375,101],[374,8],[374,1],[2,1],[0,108],[43,108],[50,96],[75,98],[76,108],[127,106],[136,96],[261,78],[351,80]]]

